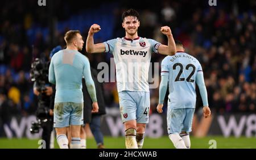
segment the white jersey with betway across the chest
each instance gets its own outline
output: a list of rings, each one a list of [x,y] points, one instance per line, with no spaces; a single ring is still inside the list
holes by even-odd
[[[148,70],[152,52],[158,53],[159,42],[138,37],[126,37],[104,42],[106,52],[112,53],[117,74],[117,90],[149,92]]]

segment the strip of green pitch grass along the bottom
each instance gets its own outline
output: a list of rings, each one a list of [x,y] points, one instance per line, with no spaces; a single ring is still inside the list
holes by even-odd
[[[216,141],[217,149],[245,149],[254,148],[256,149],[256,138],[246,138],[246,137],[216,137],[209,136],[204,138],[191,137],[191,148],[208,149],[211,144],[210,140]],[[106,148],[110,149],[124,149],[125,148],[125,138],[124,137],[104,137],[104,143]],[[28,140],[27,138],[0,138],[0,148],[3,149],[36,149],[38,148],[38,140]],[[55,140],[55,148],[59,148]],[[97,148],[96,142],[93,138],[87,140],[87,148],[95,149]],[[160,138],[148,138],[144,140],[143,148],[155,148],[155,149],[173,149],[171,141],[167,136]]]

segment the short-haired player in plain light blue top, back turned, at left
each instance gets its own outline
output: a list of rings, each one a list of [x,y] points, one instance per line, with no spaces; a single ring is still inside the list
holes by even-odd
[[[94,112],[98,112],[96,90],[89,60],[79,52],[84,45],[80,31],[68,31],[64,39],[67,49],[55,53],[49,66],[49,82],[56,84],[53,127],[61,149],[68,149],[69,126],[72,137],[70,148],[81,148],[80,127],[84,124],[82,76],[85,77]]]

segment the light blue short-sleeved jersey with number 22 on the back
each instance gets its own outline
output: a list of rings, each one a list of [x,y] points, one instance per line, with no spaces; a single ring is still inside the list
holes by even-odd
[[[172,108],[195,108],[196,74],[202,71],[199,61],[184,52],[167,56],[163,62],[169,71],[169,99]]]

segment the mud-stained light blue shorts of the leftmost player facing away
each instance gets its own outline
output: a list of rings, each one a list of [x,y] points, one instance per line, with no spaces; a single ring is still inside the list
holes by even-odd
[[[54,104],[53,127],[84,124],[84,103],[60,102]]]

